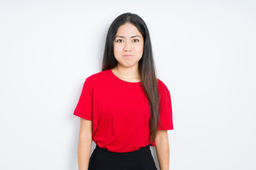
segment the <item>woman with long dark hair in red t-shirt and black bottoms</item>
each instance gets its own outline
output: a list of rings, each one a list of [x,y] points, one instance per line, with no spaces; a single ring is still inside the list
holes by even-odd
[[[74,115],[81,118],[79,169],[169,170],[171,96],[156,78],[149,30],[134,13],[111,24],[102,71],[87,77]],[[91,153],[92,140],[96,147]]]

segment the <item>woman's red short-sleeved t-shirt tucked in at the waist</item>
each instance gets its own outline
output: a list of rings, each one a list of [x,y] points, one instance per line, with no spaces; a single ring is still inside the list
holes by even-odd
[[[160,118],[158,130],[173,130],[171,96],[158,79]],[[87,77],[73,115],[92,120],[92,140],[111,152],[133,152],[149,140],[149,102],[142,83],[119,79],[111,69]]]

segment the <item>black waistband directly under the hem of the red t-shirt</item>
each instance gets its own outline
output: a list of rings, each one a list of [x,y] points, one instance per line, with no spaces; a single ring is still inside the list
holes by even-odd
[[[151,154],[149,145],[146,145],[146,147],[141,147],[133,152],[111,152],[105,148],[100,148],[98,145],[96,145],[94,152],[96,152],[96,154],[100,156],[113,158],[142,157],[146,154]]]

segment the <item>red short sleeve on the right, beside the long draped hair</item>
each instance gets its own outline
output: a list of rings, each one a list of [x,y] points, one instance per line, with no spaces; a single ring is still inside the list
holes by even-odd
[[[166,85],[159,80],[159,117],[160,121],[157,126],[157,130],[173,130],[173,115],[171,108],[171,94]]]

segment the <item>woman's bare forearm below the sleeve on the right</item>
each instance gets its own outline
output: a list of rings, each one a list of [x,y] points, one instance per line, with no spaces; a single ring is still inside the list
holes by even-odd
[[[169,170],[169,140],[167,130],[158,130],[156,133],[156,154],[160,170]]]

